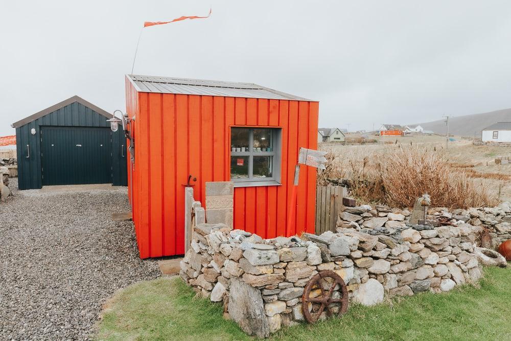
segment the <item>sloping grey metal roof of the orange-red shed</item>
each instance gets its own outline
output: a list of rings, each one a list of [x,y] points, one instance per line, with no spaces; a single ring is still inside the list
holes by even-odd
[[[183,94],[225,97],[265,98],[311,101],[253,83],[223,82],[201,79],[127,75],[142,93]]]

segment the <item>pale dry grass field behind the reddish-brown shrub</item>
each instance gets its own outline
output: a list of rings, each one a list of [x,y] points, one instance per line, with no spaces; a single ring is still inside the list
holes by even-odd
[[[378,139],[380,141],[378,144],[349,146],[321,144],[319,149],[331,152],[331,158],[334,159],[326,176],[348,179],[364,178],[364,174],[370,173],[371,169],[374,170],[378,163],[380,163],[380,167],[381,164],[386,164],[387,162],[392,164],[394,161],[392,158],[397,157],[399,151],[421,150],[428,157],[437,158],[437,162],[446,165],[446,167],[436,167],[436,171],[462,174],[460,176],[469,178],[470,181],[468,182],[476,190],[479,189],[479,193],[484,193],[501,201],[511,200],[511,164],[495,164],[495,157],[511,156],[510,147],[476,146],[470,140],[454,137],[455,141],[449,142],[449,147],[446,149],[445,137],[440,135],[415,135]],[[410,152],[409,155],[410,158],[417,157],[416,152],[415,154]],[[414,161],[420,162],[420,160],[404,160],[404,162],[402,160],[402,164],[396,164],[395,168],[398,168],[396,171],[399,172],[401,167],[405,169],[405,163],[411,165]],[[420,168],[420,164],[415,164],[415,166]],[[416,174],[416,176],[426,177],[424,170],[423,173]],[[420,183],[421,180],[416,177],[408,178],[409,184],[412,182],[414,184]],[[406,181],[406,177],[403,177],[403,182],[406,183]],[[437,180],[431,179],[431,181]],[[461,187],[458,186],[458,188]],[[474,193],[477,193],[477,191]]]

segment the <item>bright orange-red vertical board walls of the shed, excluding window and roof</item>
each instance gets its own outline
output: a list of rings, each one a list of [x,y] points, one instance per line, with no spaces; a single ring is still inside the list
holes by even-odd
[[[263,238],[314,232],[316,170],[302,166],[296,225],[286,226],[299,147],[317,148],[318,102],[138,93],[128,82],[128,115],[136,116],[133,221],[142,258],[184,253],[184,186],[197,177],[230,180],[230,127],[282,127],[281,186],[235,188],[234,228]],[[135,99],[136,97],[136,99]]]

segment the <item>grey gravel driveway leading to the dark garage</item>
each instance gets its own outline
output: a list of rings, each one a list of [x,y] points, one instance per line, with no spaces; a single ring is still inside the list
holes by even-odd
[[[111,221],[126,188],[13,194],[0,203],[0,339],[87,339],[115,290],[159,276],[133,223]]]

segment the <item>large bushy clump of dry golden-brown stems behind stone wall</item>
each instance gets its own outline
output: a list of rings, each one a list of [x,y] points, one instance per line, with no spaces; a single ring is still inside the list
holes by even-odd
[[[370,159],[350,160],[350,165],[346,174],[351,192],[361,201],[412,207],[415,198],[428,193],[437,207],[498,204],[497,196],[490,194],[487,185],[471,178],[467,169],[452,167],[443,152],[432,149],[397,146]]]

